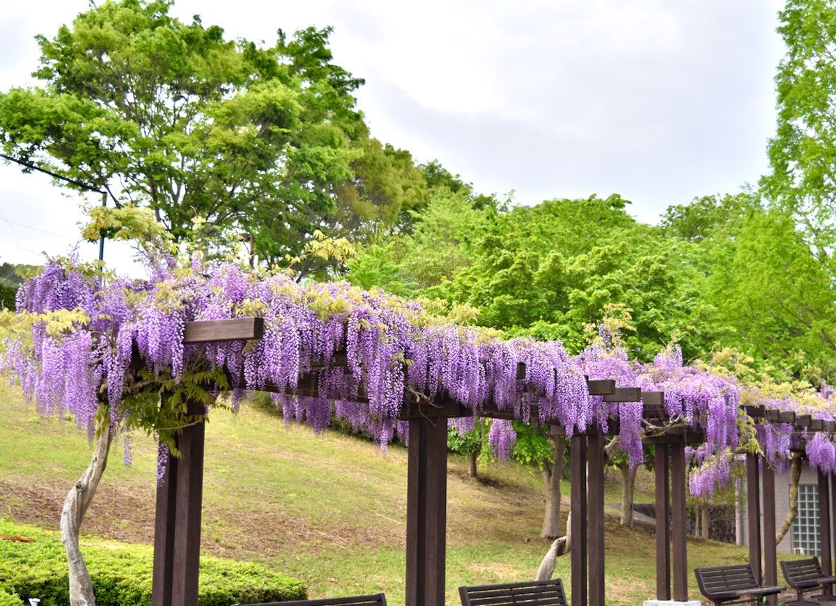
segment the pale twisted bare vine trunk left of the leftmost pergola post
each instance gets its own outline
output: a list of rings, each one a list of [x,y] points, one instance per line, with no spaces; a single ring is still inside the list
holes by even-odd
[[[110,415],[101,415],[100,418],[93,458],[79,481],[70,489],[61,510],[61,542],[64,543],[69,567],[70,606],[95,606],[96,603],[90,573],[79,548],[79,529],[87,508],[93,502],[104,467],[107,466],[110,442],[113,439],[110,432]]]

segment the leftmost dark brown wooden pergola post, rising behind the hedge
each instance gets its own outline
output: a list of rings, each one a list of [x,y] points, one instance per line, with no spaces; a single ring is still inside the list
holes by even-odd
[[[199,402],[187,404],[187,415],[204,413]],[[197,606],[205,435],[203,421],[182,430],[176,437],[181,456],[169,458],[166,476],[157,487],[153,606]]]

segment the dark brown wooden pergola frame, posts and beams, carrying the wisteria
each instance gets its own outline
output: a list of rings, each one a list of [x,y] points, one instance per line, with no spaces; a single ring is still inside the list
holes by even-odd
[[[184,343],[208,343],[231,340],[259,339],[263,334],[260,318],[186,323]],[[339,359],[329,364],[339,365]],[[344,364],[344,360],[341,362]],[[517,367],[517,379],[523,379],[523,364]],[[642,401],[645,418],[665,421],[661,392],[641,393],[638,388],[617,387],[613,380],[588,381],[589,394],[603,396],[609,402]],[[267,390],[271,390],[270,386]],[[274,391],[284,391],[273,389]],[[316,397],[317,376],[311,371],[299,377],[298,395]],[[363,395],[359,395],[361,399]],[[415,400],[415,399],[413,399]],[[203,406],[191,402],[187,415],[202,415]],[[502,419],[513,419],[512,410],[500,410],[487,403],[479,413]],[[406,571],[407,606],[443,606],[446,566],[446,474],[447,420],[471,416],[473,411],[444,396],[410,401],[405,398],[399,420],[409,422],[407,506],[406,506]],[[549,422],[553,433],[563,432],[555,420]],[[610,423],[610,435],[618,434],[617,423]],[[157,489],[153,606],[196,606],[197,579],[201,543],[201,501],[203,484],[203,452],[205,426],[189,425],[177,436],[181,457],[171,458],[163,481]],[[571,596],[573,606],[603,606],[604,583],[604,438],[599,430],[590,428],[586,434],[570,438],[571,453]],[[651,436],[647,443],[655,446],[657,598],[687,601],[686,553],[686,457],[685,447],[699,443],[704,435],[694,430],[673,429]],[[752,512],[757,507],[757,458],[747,460],[751,471],[750,527],[757,525],[759,516]],[[771,474],[764,473],[764,491],[774,493]],[[824,476],[827,481],[828,476]],[[821,481],[821,480],[820,480]],[[836,483],[833,484],[836,501]],[[820,491],[821,494],[829,494]],[[820,497],[821,498],[821,497]],[[767,499],[772,502],[772,499]],[[827,511],[827,510],[825,510]],[[765,518],[769,518],[768,512]],[[670,526],[666,521],[670,517]],[[774,505],[772,505],[772,534],[774,534]],[[753,521],[753,522],[752,522]],[[764,532],[770,532],[765,528]],[[759,530],[752,537],[760,537]],[[829,538],[828,538],[829,541]],[[760,575],[760,542],[755,545],[757,573]],[[772,559],[767,549],[765,581],[775,580],[774,546]],[[823,553],[823,567],[830,565]],[[672,568],[672,575],[671,575]],[[770,580],[772,579],[772,580]],[[671,593],[671,580],[673,592]]]

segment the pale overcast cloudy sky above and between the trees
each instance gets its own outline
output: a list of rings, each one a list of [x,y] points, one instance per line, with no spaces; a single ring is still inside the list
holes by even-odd
[[[87,0],[0,0],[0,90],[36,84],[33,36]],[[519,204],[619,193],[655,223],[671,204],[767,170],[778,0],[176,0],[227,36],[331,25],[372,135]],[[77,240],[80,198],[0,164],[0,262]],[[97,248],[83,248],[94,258]],[[109,254],[110,253],[110,254]],[[109,244],[105,258],[120,259]]]

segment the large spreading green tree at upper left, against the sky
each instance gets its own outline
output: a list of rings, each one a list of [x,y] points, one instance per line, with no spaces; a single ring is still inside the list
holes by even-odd
[[[0,94],[3,149],[150,207],[176,240],[198,216],[217,242],[250,232],[263,258],[298,253],[362,154],[362,80],[331,63],[329,28],[262,48],[170,8],[107,0],[39,36],[43,87]]]

